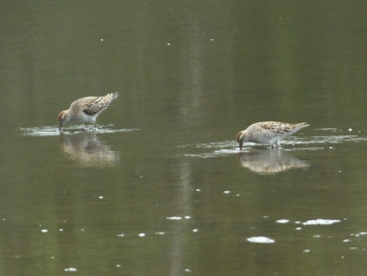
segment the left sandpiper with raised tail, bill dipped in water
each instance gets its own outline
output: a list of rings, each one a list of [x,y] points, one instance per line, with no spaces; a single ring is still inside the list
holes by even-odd
[[[83,97],[73,101],[69,109],[62,110],[57,117],[60,124],[59,131],[61,131],[62,125],[69,121],[83,122],[86,124],[87,130],[88,123],[92,123],[96,129],[95,119],[118,95],[119,93],[116,92],[101,97]]]

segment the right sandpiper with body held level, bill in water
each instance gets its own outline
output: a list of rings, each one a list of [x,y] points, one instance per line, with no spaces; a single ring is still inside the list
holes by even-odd
[[[238,132],[236,141],[240,150],[242,150],[243,142],[270,144],[273,149],[275,144],[279,147],[279,142],[284,137],[308,126],[308,123],[287,124],[273,121],[254,123],[245,130]]]

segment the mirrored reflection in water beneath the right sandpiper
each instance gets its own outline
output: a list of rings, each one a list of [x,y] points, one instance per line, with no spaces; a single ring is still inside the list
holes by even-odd
[[[310,164],[301,161],[282,150],[261,150],[256,153],[239,152],[237,163],[257,174],[277,174],[291,168],[307,169]]]

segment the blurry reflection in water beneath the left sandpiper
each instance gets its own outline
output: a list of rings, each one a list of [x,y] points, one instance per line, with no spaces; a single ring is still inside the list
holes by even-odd
[[[60,134],[59,146],[71,159],[83,167],[116,166],[120,162],[120,152],[110,149],[97,139],[95,132]]]

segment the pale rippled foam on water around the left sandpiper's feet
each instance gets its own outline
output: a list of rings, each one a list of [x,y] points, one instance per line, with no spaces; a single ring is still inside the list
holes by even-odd
[[[134,130],[141,130],[140,128],[112,128],[113,124],[98,126],[96,130],[93,128],[88,129],[88,131],[95,131],[96,133],[116,133],[116,132],[130,132]],[[44,127],[21,127],[18,129],[22,132],[22,135],[27,136],[58,136],[60,135],[59,127],[55,126],[44,126]],[[66,128],[62,128],[63,134],[78,134],[81,132],[86,132],[85,125],[73,125]]]

